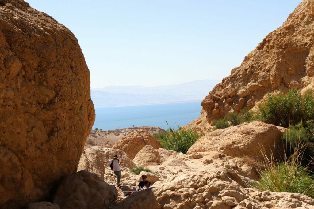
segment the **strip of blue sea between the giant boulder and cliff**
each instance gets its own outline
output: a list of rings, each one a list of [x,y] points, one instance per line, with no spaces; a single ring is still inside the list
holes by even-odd
[[[130,107],[96,107],[93,129],[113,130],[137,126],[177,129],[198,118],[201,102],[181,102]],[[166,124],[168,122],[169,126]]]

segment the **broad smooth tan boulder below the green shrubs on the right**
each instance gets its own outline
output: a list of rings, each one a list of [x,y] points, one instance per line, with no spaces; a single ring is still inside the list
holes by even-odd
[[[265,148],[268,157],[276,146],[282,145],[281,136],[284,128],[275,125],[254,121],[242,123],[225,129],[218,129],[199,138],[187,151],[193,152],[218,151],[229,156],[247,155],[263,159],[260,149]]]

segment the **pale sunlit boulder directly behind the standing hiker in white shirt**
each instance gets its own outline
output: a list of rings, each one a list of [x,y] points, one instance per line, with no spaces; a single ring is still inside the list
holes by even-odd
[[[113,155],[118,155],[118,158],[121,160],[120,166],[127,168],[135,168],[136,165],[133,161],[125,154],[125,152],[120,149],[111,149],[104,147],[91,147],[85,149],[81,159],[78,163],[78,171],[79,170],[87,170],[89,172],[97,174],[100,179],[105,179],[105,170],[106,166],[108,169],[109,163],[104,164],[103,161],[107,161],[109,159],[113,159]]]

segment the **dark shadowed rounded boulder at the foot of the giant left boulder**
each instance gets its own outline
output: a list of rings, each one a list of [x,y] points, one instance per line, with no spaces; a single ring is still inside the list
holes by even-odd
[[[98,175],[81,170],[58,187],[53,203],[61,208],[108,208],[117,198],[116,188]]]

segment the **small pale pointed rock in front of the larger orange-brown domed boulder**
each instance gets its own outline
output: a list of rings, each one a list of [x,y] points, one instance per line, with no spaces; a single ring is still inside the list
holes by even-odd
[[[157,149],[150,145],[145,145],[138,154],[136,154],[133,162],[137,166],[144,166],[151,163],[160,163],[160,155]]]

